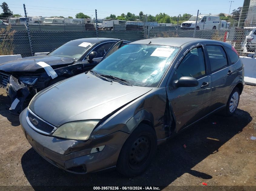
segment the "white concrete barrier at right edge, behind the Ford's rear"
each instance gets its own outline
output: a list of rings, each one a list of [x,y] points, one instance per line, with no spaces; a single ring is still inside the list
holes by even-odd
[[[244,64],[245,84],[256,85],[256,58],[240,56]]]

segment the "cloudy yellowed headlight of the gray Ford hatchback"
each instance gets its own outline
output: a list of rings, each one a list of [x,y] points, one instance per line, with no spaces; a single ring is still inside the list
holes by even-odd
[[[67,139],[87,140],[99,121],[100,119],[91,119],[65,123],[52,135]]]

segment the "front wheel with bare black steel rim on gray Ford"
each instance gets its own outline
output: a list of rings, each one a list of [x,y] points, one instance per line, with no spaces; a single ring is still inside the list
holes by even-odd
[[[151,164],[156,149],[155,130],[146,124],[140,124],[121,148],[116,169],[126,177],[141,174]]]

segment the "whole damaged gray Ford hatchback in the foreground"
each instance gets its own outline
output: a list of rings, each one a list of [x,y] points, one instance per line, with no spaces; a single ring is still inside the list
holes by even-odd
[[[118,43],[89,72],[39,92],[20,114],[28,142],[51,164],[138,175],[158,144],[238,107],[244,72],[231,45],[193,38]]]

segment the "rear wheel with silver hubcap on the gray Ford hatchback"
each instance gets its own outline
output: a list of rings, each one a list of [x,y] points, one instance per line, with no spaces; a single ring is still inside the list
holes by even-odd
[[[235,113],[235,110],[238,107],[239,99],[240,99],[240,90],[237,87],[235,87],[228,98],[227,106],[225,108],[225,113],[224,113],[225,116],[229,117]]]

